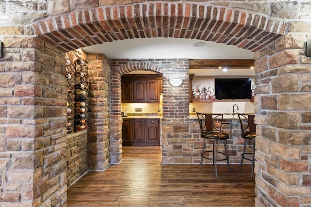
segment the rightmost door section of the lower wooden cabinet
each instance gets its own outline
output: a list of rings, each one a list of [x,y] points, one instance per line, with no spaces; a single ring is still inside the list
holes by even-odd
[[[146,143],[160,143],[159,119],[146,119]]]

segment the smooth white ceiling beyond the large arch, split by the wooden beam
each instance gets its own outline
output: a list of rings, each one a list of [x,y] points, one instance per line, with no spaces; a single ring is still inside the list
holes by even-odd
[[[201,48],[193,44],[204,42]],[[88,53],[103,53],[110,59],[253,59],[254,52],[221,43],[182,38],[143,38],[107,42],[82,48]],[[251,69],[190,69],[196,76],[254,76]]]

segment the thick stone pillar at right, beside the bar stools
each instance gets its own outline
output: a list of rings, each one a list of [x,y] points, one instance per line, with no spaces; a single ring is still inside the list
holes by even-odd
[[[304,35],[256,53],[256,206],[311,203],[311,75]]]

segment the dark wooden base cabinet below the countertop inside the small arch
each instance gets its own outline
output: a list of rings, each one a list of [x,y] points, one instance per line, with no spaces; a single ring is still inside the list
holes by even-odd
[[[159,146],[160,119],[123,119],[123,146]]]

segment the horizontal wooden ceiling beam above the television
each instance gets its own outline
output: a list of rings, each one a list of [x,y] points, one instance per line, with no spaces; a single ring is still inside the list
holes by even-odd
[[[205,69],[205,68],[250,68],[254,67],[254,60],[195,60],[190,59],[190,69]]]

